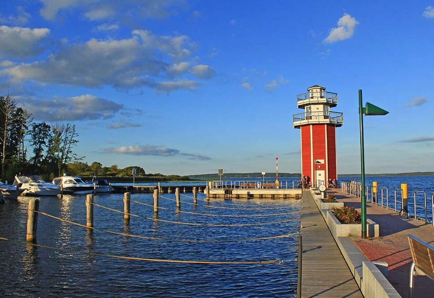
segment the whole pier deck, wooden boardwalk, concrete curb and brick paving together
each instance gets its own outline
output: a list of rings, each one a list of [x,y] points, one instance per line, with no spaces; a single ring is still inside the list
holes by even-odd
[[[360,211],[360,198],[338,188],[327,192]],[[369,202],[367,217],[379,224],[380,237],[362,239],[358,234],[334,239],[311,192],[303,191],[299,297],[409,297],[412,255],[407,235],[432,244],[433,224]],[[413,297],[432,297],[432,293],[433,280],[418,276]]]

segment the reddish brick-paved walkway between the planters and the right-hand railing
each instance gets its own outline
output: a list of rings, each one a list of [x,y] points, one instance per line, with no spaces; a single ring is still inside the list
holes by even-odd
[[[344,205],[353,206],[359,211],[359,198],[342,193],[340,190],[327,189],[335,193],[337,199]],[[391,285],[403,298],[409,297],[409,273],[412,256],[407,234],[412,234],[424,242],[434,245],[434,227],[424,221],[407,219],[394,210],[379,205],[367,203],[367,217],[380,225],[380,237],[377,239],[362,239],[361,235],[352,236],[352,240],[369,261],[385,261],[388,264],[388,276]],[[303,217],[302,217],[303,218]],[[424,277],[415,279],[414,297],[434,297],[434,281]]]

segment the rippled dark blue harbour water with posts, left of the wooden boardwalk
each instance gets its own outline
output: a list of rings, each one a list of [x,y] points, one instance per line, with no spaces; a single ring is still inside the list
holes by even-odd
[[[207,203],[203,201],[204,195],[198,194],[198,205],[193,205],[192,197],[192,193],[182,193],[182,212],[178,212],[175,195],[162,194],[159,205],[164,209],[154,216],[152,194],[132,194],[131,200],[147,205],[131,202],[131,213],[138,216],[131,216],[129,223],[124,222],[122,213],[94,206],[97,229],[93,231],[39,214],[37,244],[41,246],[25,243],[31,198],[7,200],[0,205],[0,237],[9,239],[0,240],[1,297],[295,295],[297,235],[275,237],[299,231],[299,203],[289,200]],[[85,198],[42,197],[39,210],[86,224]],[[96,195],[94,202],[120,211],[124,208],[122,194]],[[257,238],[262,240],[253,240]],[[276,259],[283,262],[259,263]],[[243,263],[247,261],[255,263]]]

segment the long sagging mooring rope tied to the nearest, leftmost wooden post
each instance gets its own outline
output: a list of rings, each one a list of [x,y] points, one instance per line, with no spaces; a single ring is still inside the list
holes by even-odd
[[[42,215],[51,217],[53,219],[59,220],[61,222],[71,223],[75,224],[81,227],[98,230],[101,232],[106,232],[110,234],[116,234],[120,236],[126,236],[126,237],[134,237],[134,238],[141,238],[141,239],[149,239],[149,240],[161,240],[161,241],[173,241],[173,242],[244,242],[244,241],[258,241],[258,240],[270,240],[270,239],[278,239],[278,238],[286,238],[286,237],[292,237],[293,235],[298,234],[299,232],[287,234],[287,235],[278,235],[278,236],[269,236],[269,237],[261,237],[261,238],[247,238],[247,239],[227,239],[227,240],[188,240],[188,239],[169,239],[169,238],[158,238],[158,237],[148,237],[148,236],[142,236],[142,235],[133,235],[133,234],[127,234],[127,233],[121,233],[121,232],[115,232],[110,230],[105,230],[97,227],[90,227],[81,223],[75,223],[60,217],[56,217],[54,215],[42,212],[42,211],[36,211],[37,213],[40,213]]]

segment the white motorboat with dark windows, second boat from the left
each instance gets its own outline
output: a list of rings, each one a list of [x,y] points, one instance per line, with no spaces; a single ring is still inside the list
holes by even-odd
[[[60,193],[60,186],[45,182],[38,175],[17,175],[13,186],[22,189],[22,196],[56,196]]]

